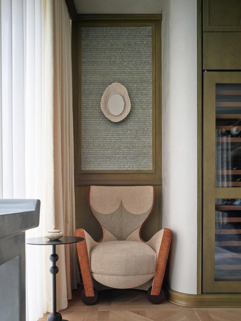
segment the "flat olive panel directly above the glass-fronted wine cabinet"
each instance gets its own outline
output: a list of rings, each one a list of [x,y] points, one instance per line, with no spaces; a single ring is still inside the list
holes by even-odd
[[[203,69],[241,69],[241,32],[203,32]]]

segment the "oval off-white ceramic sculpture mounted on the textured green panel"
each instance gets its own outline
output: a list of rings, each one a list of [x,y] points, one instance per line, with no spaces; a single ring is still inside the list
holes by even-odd
[[[113,122],[124,119],[130,111],[130,99],[125,86],[113,82],[101,98],[101,110]]]

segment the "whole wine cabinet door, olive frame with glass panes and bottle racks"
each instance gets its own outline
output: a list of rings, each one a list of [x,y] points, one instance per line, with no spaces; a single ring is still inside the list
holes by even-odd
[[[241,72],[204,72],[203,80],[202,291],[239,293]]]

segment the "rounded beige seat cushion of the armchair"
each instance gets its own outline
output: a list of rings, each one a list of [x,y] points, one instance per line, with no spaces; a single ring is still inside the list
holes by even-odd
[[[90,252],[90,269],[92,273],[106,275],[155,273],[156,257],[156,252],[144,242],[103,242]]]

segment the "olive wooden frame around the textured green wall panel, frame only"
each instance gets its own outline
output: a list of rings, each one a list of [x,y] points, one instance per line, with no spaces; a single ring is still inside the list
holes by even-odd
[[[161,19],[162,15],[78,15],[73,25],[73,109],[75,185],[161,185]],[[81,27],[151,26],[152,27],[152,170],[81,170]]]

